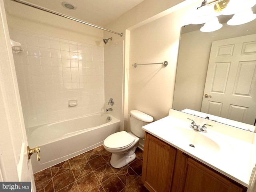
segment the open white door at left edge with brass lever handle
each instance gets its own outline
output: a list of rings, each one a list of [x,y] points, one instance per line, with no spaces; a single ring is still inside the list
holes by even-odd
[[[0,45],[0,181],[32,182],[32,191],[36,191],[26,152],[28,141],[3,0],[0,0]]]

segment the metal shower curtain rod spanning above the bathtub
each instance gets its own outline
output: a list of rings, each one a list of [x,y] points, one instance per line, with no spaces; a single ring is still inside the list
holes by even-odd
[[[31,6],[31,7],[34,7],[34,8],[37,8],[37,9],[40,9],[40,10],[43,10],[43,11],[46,11],[46,12],[49,12],[49,13],[58,15],[58,16],[62,16],[62,17],[64,17],[64,18],[71,19],[71,20],[76,21],[76,22],[80,22],[80,23],[83,23],[83,24],[86,24],[86,25],[89,25],[89,26],[92,26],[92,27],[95,27],[95,28],[98,28],[98,29],[101,29],[101,30],[104,30],[104,31],[108,31],[108,32],[111,32],[111,33],[120,35],[121,37],[123,36],[123,33],[114,32],[114,31],[112,31],[112,30],[108,30],[108,29],[102,28],[102,27],[100,27],[100,26],[97,26],[97,25],[94,25],[94,24],[90,24],[90,23],[84,22],[84,21],[81,21],[81,20],[72,18],[72,17],[70,17],[70,16],[66,16],[66,15],[63,15],[63,14],[54,12],[54,11],[52,11],[52,10],[48,10],[48,9],[45,9],[45,8],[42,8],[42,7],[38,7],[38,6],[36,6],[36,5],[30,4],[30,3],[27,3],[27,2],[23,2],[23,1],[20,1],[20,0],[11,0],[11,1],[18,2],[18,3],[24,4],[24,5],[28,5],[28,6]]]

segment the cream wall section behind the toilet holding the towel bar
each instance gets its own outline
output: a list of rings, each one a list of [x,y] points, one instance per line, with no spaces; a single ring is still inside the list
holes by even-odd
[[[178,13],[172,13],[130,33],[128,111],[137,109],[158,120],[172,107],[180,37]],[[174,30],[176,28],[176,30]],[[132,64],[158,63],[134,68]]]

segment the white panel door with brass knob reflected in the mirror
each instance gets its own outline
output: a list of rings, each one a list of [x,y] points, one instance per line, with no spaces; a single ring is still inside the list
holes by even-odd
[[[254,124],[256,34],[212,42],[201,112]]]

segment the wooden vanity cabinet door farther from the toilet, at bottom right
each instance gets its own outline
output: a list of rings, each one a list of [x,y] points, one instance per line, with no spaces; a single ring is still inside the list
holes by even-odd
[[[184,192],[244,192],[245,187],[188,158]]]

